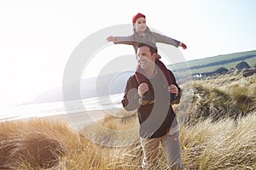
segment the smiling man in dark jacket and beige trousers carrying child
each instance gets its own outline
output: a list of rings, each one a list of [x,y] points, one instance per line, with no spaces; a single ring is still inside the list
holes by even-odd
[[[150,45],[149,45],[150,44]],[[137,44],[137,62],[143,69],[148,83],[138,84],[135,75],[126,82],[122,105],[126,111],[137,110],[139,134],[143,146],[143,169],[152,169],[160,143],[166,154],[170,169],[183,169],[177,119],[172,110],[171,93],[179,94],[181,89],[172,72],[173,84],[168,87],[165,75],[155,65],[157,49],[151,43]],[[152,105],[139,105],[139,99],[148,90],[154,95]]]

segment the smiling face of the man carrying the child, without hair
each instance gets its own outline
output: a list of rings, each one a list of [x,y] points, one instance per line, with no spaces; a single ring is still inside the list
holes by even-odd
[[[143,70],[154,66],[155,58],[156,54],[151,54],[150,48],[147,46],[137,48],[137,62],[141,65]]]

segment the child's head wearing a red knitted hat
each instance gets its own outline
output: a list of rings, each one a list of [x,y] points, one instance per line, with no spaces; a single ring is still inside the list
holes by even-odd
[[[137,32],[143,32],[147,29],[146,16],[141,13],[137,13],[132,17],[133,29]]]

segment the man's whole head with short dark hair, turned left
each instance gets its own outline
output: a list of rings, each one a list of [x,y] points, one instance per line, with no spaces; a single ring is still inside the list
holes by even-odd
[[[142,69],[149,69],[154,66],[157,57],[157,48],[149,45],[148,43],[137,44],[137,62],[141,65]]]

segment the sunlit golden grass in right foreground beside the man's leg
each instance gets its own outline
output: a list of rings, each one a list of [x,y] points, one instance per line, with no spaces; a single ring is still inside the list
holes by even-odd
[[[188,169],[255,169],[256,115],[198,122],[181,127],[183,161]]]

